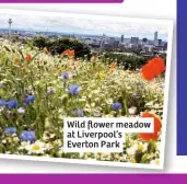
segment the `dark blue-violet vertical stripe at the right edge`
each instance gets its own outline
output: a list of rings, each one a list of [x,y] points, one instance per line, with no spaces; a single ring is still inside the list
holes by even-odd
[[[184,141],[187,138],[186,104],[186,43],[187,43],[187,1],[177,0],[177,156],[187,156]]]

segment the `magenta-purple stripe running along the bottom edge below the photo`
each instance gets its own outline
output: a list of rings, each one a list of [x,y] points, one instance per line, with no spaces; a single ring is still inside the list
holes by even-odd
[[[187,174],[4,174],[4,184],[185,184]]]

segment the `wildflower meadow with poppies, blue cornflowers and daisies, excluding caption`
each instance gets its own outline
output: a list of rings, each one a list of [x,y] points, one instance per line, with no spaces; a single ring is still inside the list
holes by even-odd
[[[124,70],[103,55],[74,53],[0,41],[0,153],[160,164],[162,58]],[[121,153],[66,153],[65,117],[153,117],[154,133],[127,134]]]

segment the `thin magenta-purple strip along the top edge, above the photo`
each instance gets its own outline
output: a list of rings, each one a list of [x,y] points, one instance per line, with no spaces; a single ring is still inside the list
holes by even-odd
[[[0,0],[0,3],[121,3],[124,0]]]

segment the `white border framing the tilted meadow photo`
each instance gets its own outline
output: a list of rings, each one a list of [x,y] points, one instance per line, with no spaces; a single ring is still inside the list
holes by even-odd
[[[162,120],[162,136],[161,136],[161,150],[160,150],[160,165],[145,164],[145,163],[130,163],[130,162],[112,162],[112,161],[96,161],[96,160],[83,160],[83,159],[66,159],[66,158],[47,158],[47,157],[35,157],[35,156],[16,156],[16,154],[2,154],[0,159],[11,160],[27,160],[27,161],[44,161],[44,162],[61,162],[61,163],[75,163],[75,164],[91,164],[91,165],[108,165],[108,166],[122,166],[122,168],[136,168],[136,169],[164,169],[164,156],[165,156],[165,140],[166,140],[166,122],[167,122],[167,105],[168,105],[168,92],[170,92],[170,76],[171,76],[171,61],[173,50],[173,31],[174,21],[172,20],[157,20],[157,19],[142,19],[142,18],[122,18],[122,16],[109,16],[109,15],[95,15],[95,14],[80,14],[80,13],[60,13],[60,12],[48,12],[48,11],[34,11],[34,10],[12,10],[1,9],[2,13],[17,13],[28,15],[34,13],[35,15],[45,16],[67,16],[68,18],[94,18],[98,20],[117,20],[116,22],[141,22],[141,23],[156,23],[167,25],[167,57],[166,57],[166,74],[165,74],[165,92],[164,92],[164,107],[163,107],[163,120]]]

